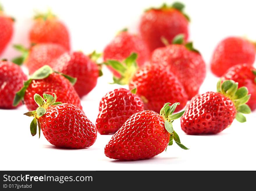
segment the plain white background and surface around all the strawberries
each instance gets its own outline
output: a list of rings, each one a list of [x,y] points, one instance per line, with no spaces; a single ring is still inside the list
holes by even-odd
[[[6,13],[16,18],[11,44],[26,46],[34,10],[47,8],[68,26],[72,49],[90,53],[102,51],[122,28],[137,32],[138,20],[145,8],[159,6],[163,1],[14,1],[2,0]],[[167,1],[172,3],[172,1]],[[256,41],[255,1],[183,1],[191,17],[190,40],[199,49],[207,65],[216,44],[230,35]],[[1,29],[0,29],[1,30]],[[11,45],[1,56],[11,59],[18,53]],[[217,78],[209,72],[200,93],[214,91]],[[83,97],[82,106],[87,117],[95,122],[101,97],[118,85],[111,82],[111,74],[104,69],[96,88]],[[22,115],[26,107],[0,110],[1,170],[256,170],[255,113],[247,115],[247,122],[234,121],[218,135],[191,136],[174,122],[175,131],[189,150],[177,145],[149,160],[120,162],[107,158],[104,147],[111,135],[99,135],[87,149],[69,150],[52,146],[42,136],[32,137],[29,124],[32,118]]]

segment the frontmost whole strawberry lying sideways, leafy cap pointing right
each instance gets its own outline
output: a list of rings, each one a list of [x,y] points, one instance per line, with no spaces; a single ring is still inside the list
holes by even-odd
[[[173,140],[182,149],[188,149],[181,144],[172,124],[184,111],[173,115],[179,103],[169,104],[163,106],[161,115],[146,110],[129,117],[106,145],[105,155],[118,160],[148,159],[166,150]]]

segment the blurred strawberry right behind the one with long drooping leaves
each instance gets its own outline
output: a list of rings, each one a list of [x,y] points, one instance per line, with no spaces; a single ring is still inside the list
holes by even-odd
[[[90,58],[95,55],[95,52],[91,56],[82,52],[64,53],[52,64],[55,71],[77,78],[74,88],[80,97],[88,94],[97,84],[99,69]]]

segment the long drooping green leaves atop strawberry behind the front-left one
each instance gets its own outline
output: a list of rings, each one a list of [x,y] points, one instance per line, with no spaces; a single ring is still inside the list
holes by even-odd
[[[40,80],[40,79],[47,78],[53,72],[55,72],[55,71],[53,71],[52,68],[50,66],[48,66],[48,65],[44,65],[43,67],[41,67],[38,70],[36,70],[34,72],[34,74],[32,76],[30,76],[29,80],[24,82],[23,87],[15,94],[15,97],[14,97],[14,100],[13,100],[13,106],[17,106],[19,104],[19,102],[22,101],[22,99],[24,98],[26,89],[29,87],[30,83],[33,80]],[[73,78],[71,76],[62,74],[60,72],[55,72],[55,73],[58,73],[58,74],[64,76],[73,85],[74,85],[74,83],[76,83],[76,80],[77,80],[76,78]]]

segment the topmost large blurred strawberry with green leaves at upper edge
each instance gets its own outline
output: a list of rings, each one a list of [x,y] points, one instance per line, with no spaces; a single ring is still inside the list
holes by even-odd
[[[183,13],[184,5],[175,2],[172,6],[163,4],[160,8],[150,8],[141,17],[139,30],[149,50],[164,47],[161,38],[172,42],[178,34],[189,35],[189,17]]]

